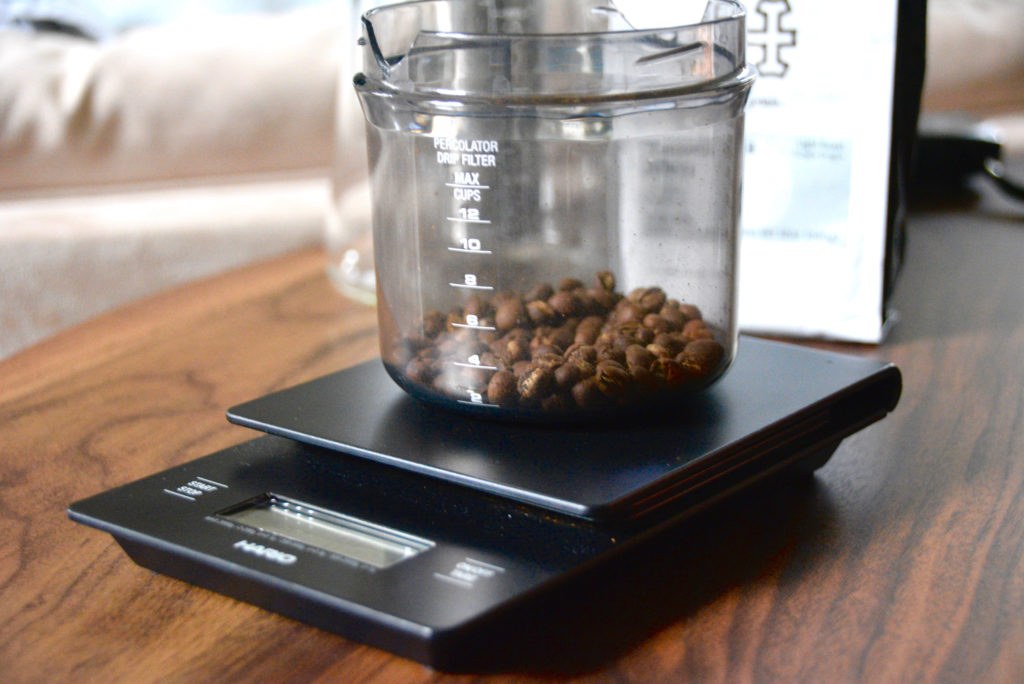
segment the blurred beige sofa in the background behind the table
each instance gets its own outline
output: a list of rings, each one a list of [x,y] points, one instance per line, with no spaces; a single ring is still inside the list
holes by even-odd
[[[0,31],[0,357],[318,244],[347,13],[326,2],[102,42]],[[1022,36],[1024,1],[931,0],[925,111],[991,118],[1024,153]]]

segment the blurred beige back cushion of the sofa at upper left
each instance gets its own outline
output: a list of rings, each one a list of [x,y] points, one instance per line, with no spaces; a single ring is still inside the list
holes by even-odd
[[[326,169],[345,14],[0,33],[0,190]]]

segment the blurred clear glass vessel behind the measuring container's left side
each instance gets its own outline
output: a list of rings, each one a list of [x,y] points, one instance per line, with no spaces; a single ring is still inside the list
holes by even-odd
[[[351,0],[346,36],[338,71],[335,109],[334,165],[326,244],[328,274],[347,297],[367,304],[376,302],[370,186],[367,174],[366,123],[352,77],[362,57],[357,43],[360,16],[387,0]]]

